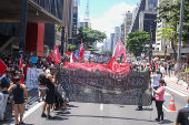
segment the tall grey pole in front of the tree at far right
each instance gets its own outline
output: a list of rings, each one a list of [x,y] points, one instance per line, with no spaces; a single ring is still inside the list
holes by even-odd
[[[181,0],[180,4],[180,25],[179,25],[179,41],[178,41],[178,53],[177,53],[177,76],[180,74],[180,58],[181,58],[181,40],[182,40],[182,25],[183,25],[183,9],[185,0]]]

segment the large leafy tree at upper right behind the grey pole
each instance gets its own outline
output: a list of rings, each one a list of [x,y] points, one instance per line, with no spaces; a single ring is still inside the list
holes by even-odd
[[[177,60],[176,53],[176,44],[178,42],[178,25],[180,19],[180,1],[170,2],[169,0],[163,0],[160,2],[159,7],[157,7],[157,11],[159,15],[157,17],[157,22],[161,22],[165,20],[168,27],[162,28],[159,35],[162,38],[169,39],[171,42],[172,50],[175,52],[175,60]],[[163,34],[165,33],[165,34]],[[170,34],[170,35],[169,35]],[[183,10],[183,30],[182,30],[182,41],[186,42],[189,40],[189,1],[185,1],[185,10]]]

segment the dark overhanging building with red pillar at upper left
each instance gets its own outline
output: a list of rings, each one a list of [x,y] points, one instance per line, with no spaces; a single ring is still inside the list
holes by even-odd
[[[16,54],[21,51],[43,56],[44,45],[54,41],[54,24],[62,23],[62,0],[1,1],[0,54],[3,52],[6,54]],[[28,10],[22,8],[22,3],[28,4]],[[22,12],[27,11],[27,15],[22,14],[21,10]],[[16,14],[9,14],[8,17],[7,13]],[[22,20],[20,20],[20,17],[22,17]],[[48,29],[47,23],[52,24],[49,27],[52,29],[51,32],[46,32]]]

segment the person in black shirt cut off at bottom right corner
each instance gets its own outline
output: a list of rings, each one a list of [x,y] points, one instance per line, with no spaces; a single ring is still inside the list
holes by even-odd
[[[175,125],[189,125],[189,107],[179,110]]]

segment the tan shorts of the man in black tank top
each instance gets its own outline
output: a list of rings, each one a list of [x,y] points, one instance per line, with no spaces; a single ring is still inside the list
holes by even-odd
[[[20,115],[24,114],[24,103],[23,104],[12,104],[12,115],[18,115],[20,112]]]

